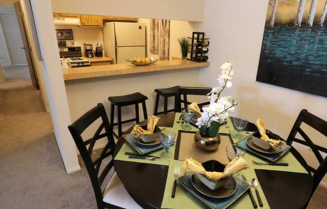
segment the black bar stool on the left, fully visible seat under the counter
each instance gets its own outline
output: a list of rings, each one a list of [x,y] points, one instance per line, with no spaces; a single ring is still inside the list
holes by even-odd
[[[147,112],[146,112],[146,104],[145,100],[147,97],[139,92],[123,95],[123,96],[109,96],[108,100],[111,102],[111,108],[110,108],[110,124],[112,124],[112,127],[118,126],[118,135],[114,132],[113,135],[118,139],[122,135],[121,125],[126,124],[129,122],[136,121],[136,123],[139,123],[139,114],[138,114],[138,104],[142,103],[143,108],[143,116],[144,120],[147,119]],[[129,106],[129,105],[135,105],[135,116],[134,119],[129,119],[126,121],[121,121],[121,107]],[[117,115],[117,123],[113,123],[114,118],[114,112],[115,112],[115,106],[118,108],[118,115]]]

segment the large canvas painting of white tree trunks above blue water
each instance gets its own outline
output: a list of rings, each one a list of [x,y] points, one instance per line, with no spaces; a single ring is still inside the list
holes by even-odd
[[[257,81],[327,97],[327,0],[270,0]]]

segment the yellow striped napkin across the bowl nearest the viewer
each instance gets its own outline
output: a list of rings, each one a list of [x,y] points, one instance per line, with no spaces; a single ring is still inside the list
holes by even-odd
[[[206,169],[202,166],[201,163],[193,160],[192,158],[187,158],[183,164],[183,174],[192,175],[200,173],[210,181],[218,182],[248,167],[249,164],[242,157],[236,157],[234,158],[234,160],[232,160],[226,165],[223,172],[211,172],[206,171]]]

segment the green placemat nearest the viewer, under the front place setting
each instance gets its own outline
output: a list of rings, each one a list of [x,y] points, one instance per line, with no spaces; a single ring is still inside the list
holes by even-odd
[[[206,208],[205,204],[202,203],[198,198],[196,198],[193,194],[191,194],[186,189],[182,188],[181,185],[176,186],[176,194],[175,198],[172,198],[172,189],[174,183],[174,169],[176,166],[179,166],[182,173],[182,165],[183,161],[171,160],[169,164],[168,176],[166,181],[164,198],[162,199],[161,208],[178,208],[178,209],[189,209],[189,208]],[[252,167],[241,172],[248,181],[251,181],[252,178],[256,178],[255,172]],[[252,194],[257,201],[255,190],[251,188]],[[263,202],[263,207],[260,208],[270,208],[267,202],[266,197],[260,187],[258,186],[258,190]],[[217,199],[217,201],[220,201]],[[240,198],[238,198],[235,202],[233,202],[229,208],[253,208],[250,197],[247,193],[244,193]]]

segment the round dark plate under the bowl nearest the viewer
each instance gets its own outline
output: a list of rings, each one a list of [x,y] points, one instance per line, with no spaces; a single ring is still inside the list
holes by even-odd
[[[237,189],[237,184],[234,177],[230,178],[228,181],[226,181],[225,185],[219,187],[216,190],[211,190],[208,188],[204,183],[200,181],[197,175],[192,175],[191,183],[200,193],[214,198],[228,197],[234,194]]]

